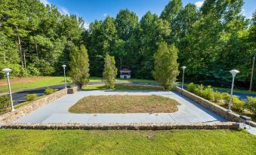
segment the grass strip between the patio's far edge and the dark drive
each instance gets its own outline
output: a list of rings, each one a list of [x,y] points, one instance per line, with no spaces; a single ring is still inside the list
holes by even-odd
[[[87,85],[82,87],[82,90],[108,90],[103,84]],[[115,90],[164,90],[163,87],[145,86],[145,85],[129,85],[116,84]]]

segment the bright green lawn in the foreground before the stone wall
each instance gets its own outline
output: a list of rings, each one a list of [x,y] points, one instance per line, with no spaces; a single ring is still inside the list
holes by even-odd
[[[232,130],[0,129],[0,154],[256,154],[256,136]]]

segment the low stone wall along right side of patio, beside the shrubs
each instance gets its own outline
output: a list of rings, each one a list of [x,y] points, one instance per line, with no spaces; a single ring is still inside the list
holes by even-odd
[[[244,120],[240,118],[239,114],[236,114],[233,112],[227,112],[226,108],[223,108],[220,105],[210,102],[207,99],[203,99],[200,96],[196,96],[195,94],[190,93],[187,90],[182,90],[180,87],[176,87],[176,91],[182,94],[183,96],[186,96],[187,98],[192,99],[194,102],[199,103],[205,108],[208,108],[210,111],[213,111],[214,113],[220,115],[221,117],[224,117],[226,120],[230,120],[232,122],[244,122]],[[251,126],[256,127],[256,123],[252,121],[250,122],[247,121],[246,123],[250,123]]]

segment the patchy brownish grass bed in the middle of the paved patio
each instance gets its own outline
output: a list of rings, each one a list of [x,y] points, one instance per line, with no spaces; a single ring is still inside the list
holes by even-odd
[[[72,113],[171,113],[180,105],[163,96],[87,96],[69,108]]]

